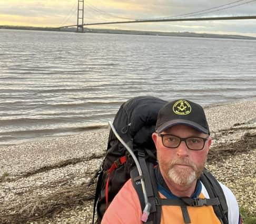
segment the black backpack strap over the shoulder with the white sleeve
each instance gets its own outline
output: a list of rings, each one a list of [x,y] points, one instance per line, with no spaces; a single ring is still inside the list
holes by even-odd
[[[220,205],[213,205],[216,216],[223,224],[229,224],[228,205],[218,180],[206,168],[204,168],[200,180],[208,191],[210,198],[219,198]]]

